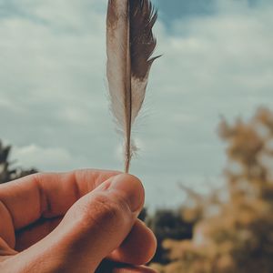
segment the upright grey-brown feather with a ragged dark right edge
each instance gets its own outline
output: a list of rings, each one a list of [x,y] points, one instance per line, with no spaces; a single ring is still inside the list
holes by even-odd
[[[107,80],[111,110],[125,138],[125,171],[136,150],[132,126],[143,105],[157,41],[157,12],[150,0],[109,0],[106,19]]]

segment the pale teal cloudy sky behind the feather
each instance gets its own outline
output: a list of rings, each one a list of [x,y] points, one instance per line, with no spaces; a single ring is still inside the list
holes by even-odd
[[[20,167],[123,168],[109,111],[104,0],[0,0],[0,138]],[[273,108],[270,0],[155,0],[157,55],[131,173],[147,207],[224,185],[221,116]]]

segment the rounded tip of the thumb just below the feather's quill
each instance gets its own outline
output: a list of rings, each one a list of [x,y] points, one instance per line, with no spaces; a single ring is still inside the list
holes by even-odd
[[[109,188],[118,191],[126,199],[133,213],[141,210],[144,204],[144,188],[138,178],[125,174],[118,175],[113,177]]]

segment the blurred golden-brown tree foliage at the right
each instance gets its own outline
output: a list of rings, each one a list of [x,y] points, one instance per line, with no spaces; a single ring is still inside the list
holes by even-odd
[[[248,122],[223,120],[228,200],[203,215],[192,240],[165,240],[171,262],[158,272],[272,273],[273,113],[261,108]],[[209,214],[208,214],[209,215]]]

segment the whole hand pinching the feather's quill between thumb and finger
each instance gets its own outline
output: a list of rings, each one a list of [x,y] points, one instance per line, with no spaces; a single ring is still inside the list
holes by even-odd
[[[0,186],[0,272],[154,272],[156,239],[136,217],[136,177],[79,170]]]

